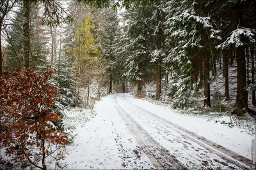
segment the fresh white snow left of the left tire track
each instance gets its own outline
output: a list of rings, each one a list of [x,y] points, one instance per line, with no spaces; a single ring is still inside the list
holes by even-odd
[[[65,160],[60,166],[67,169],[133,169],[154,168],[145,155],[138,159],[136,141],[113,108],[111,96],[95,106],[97,115],[86,122],[78,118],[83,111],[68,111],[68,120],[77,120],[74,143],[67,146]],[[89,115],[88,115],[89,116]],[[76,121],[72,121],[72,124]],[[137,162],[135,162],[137,160]],[[51,166],[54,168],[54,165]]]

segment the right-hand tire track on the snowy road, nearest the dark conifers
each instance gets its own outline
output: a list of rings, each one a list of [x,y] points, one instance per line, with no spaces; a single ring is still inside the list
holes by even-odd
[[[216,155],[220,156],[221,159],[226,160],[227,162],[230,162],[231,164],[234,164],[238,167],[241,167],[242,169],[251,169],[250,166],[252,165],[252,160],[243,157],[242,155],[239,155],[236,152],[233,152],[232,150],[228,150],[228,148],[225,148],[221,145],[218,145],[217,143],[214,143],[203,136],[199,136],[198,134],[195,134],[194,132],[188,131],[184,129],[183,127],[180,127],[180,125],[173,124],[172,122],[169,122],[165,118],[159,117],[155,115],[154,113],[151,113],[150,111],[147,111],[140,106],[137,106],[136,104],[131,103],[128,99],[125,98],[125,95],[120,96],[124,101],[130,104],[133,108],[142,111],[143,113],[147,113],[147,115],[150,115],[152,118],[157,120],[158,122],[161,122],[161,124],[164,124],[173,131],[178,132],[182,136],[186,136],[186,138],[190,139],[194,143],[204,147],[207,150],[211,150],[211,152],[215,153]]]

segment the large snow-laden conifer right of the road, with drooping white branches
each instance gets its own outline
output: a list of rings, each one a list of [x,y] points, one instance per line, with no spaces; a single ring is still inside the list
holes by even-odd
[[[172,5],[172,6],[170,6]],[[214,57],[212,41],[220,39],[211,17],[196,11],[196,1],[167,3],[169,10],[166,35],[170,51],[166,63],[176,63],[182,73],[184,88],[189,90],[188,81],[195,83],[198,90],[198,75],[204,75],[205,106],[211,107],[210,64]],[[169,64],[170,65],[170,64]],[[202,81],[201,81],[202,82]]]

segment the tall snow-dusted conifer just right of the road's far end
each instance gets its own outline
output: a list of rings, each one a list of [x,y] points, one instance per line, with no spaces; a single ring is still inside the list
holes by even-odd
[[[150,11],[143,11],[141,8],[131,9],[127,13],[129,20],[126,32],[127,42],[125,44],[124,74],[137,85],[137,96],[142,96],[143,81],[152,75],[152,62],[149,57],[148,39],[150,38],[150,18],[147,17]],[[125,38],[125,37],[124,37]]]

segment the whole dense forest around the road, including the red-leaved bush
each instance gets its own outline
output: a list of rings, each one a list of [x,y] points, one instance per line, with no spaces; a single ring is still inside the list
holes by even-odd
[[[0,146],[35,167],[69,142],[61,110],[106,94],[255,115],[256,1],[0,5]]]

